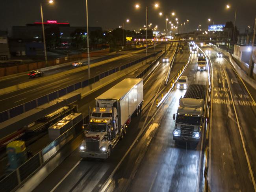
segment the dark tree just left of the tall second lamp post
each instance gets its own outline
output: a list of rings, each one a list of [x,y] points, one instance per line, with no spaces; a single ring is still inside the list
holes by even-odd
[[[72,37],[72,46],[76,48],[85,48],[87,47],[87,33],[83,29],[75,29],[71,34]]]

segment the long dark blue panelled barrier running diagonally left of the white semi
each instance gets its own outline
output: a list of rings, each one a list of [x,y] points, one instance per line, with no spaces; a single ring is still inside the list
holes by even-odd
[[[102,72],[100,75],[97,75],[97,76],[94,76],[93,78],[91,79],[87,79],[85,81],[80,81],[78,83],[75,83],[73,85],[69,85],[68,87],[65,87],[65,88],[62,88],[62,89],[59,89],[55,92],[52,92],[52,93],[49,93],[49,94],[46,94],[44,96],[41,96],[40,98],[36,98],[30,102],[27,102],[27,103],[24,103],[24,104],[21,104],[21,105],[18,105],[16,107],[13,107],[11,109],[8,109],[6,111],[3,111],[0,113],[0,123],[1,122],[4,122],[10,118],[13,118],[19,114],[22,114],[22,113],[25,113],[26,111],[29,111],[31,109],[34,109],[36,107],[39,107],[40,105],[43,105],[45,103],[48,103],[52,100],[55,100],[61,96],[64,96],[72,91],[75,91],[77,89],[80,89],[80,88],[84,88],[84,87],[87,87],[97,81],[99,81],[100,79],[102,78],[105,78],[115,72],[118,72],[118,71],[121,71],[121,70],[124,70],[130,66],[133,66],[145,59],[148,59],[152,56],[155,56],[157,54],[159,54],[161,51],[158,51],[154,54],[151,54],[151,55],[148,55],[147,57],[142,57],[140,59],[137,59],[135,61],[132,61],[130,63],[127,63],[127,64],[124,64],[122,66],[118,66],[116,68],[112,68],[108,71],[105,71],[105,72]]]

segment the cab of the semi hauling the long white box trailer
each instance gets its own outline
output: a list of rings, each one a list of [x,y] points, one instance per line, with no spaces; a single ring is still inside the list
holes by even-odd
[[[120,136],[117,109],[94,107],[90,118],[87,135],[80,146],[80,156],[107,159]]]

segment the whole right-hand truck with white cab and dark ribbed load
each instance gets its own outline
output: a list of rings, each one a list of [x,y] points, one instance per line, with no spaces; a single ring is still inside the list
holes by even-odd
[[[175,141],[199,142],[204,123],[205,92],[205,85],[192,84],[180,98],[178,111],[173,114]]]

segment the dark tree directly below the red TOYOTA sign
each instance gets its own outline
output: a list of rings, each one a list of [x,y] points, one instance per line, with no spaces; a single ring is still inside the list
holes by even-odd
[[[45,42],[47,48],[55,49],[60,43],[60,32],[58,26],[50,26],[45,29]]]

